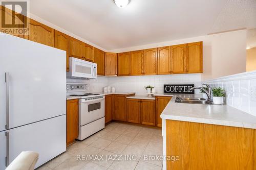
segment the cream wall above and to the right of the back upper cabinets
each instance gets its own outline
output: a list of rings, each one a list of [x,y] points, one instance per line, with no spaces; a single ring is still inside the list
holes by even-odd
[[[202,80],[214,79],[246,71],[246,30],[212,34],[142,46],[122,48],[112,52],[127,52],[146,48],[203,41]]]

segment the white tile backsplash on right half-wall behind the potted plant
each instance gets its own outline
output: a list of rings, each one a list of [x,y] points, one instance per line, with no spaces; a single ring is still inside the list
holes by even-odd
[[[210,86],[221,86],[226,90],[227,105],[256,116],[256,99],[252,99],[251,88],[256,88],[256,72],[220,78],[220,81],[211,80],[204,82]]]

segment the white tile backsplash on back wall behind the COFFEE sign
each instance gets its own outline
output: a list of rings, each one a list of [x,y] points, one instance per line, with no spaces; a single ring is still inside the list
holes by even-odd
[[[189,83],[201,86],[201,74],[110,77],[108,84],[111,87],[115,87],[116,91],[136,92],[136,95],[147,95],[145,90],[147,85],[154,86],[157,93],[163,93],[164,84]],[[196,93],[198,92],[196,90]]]

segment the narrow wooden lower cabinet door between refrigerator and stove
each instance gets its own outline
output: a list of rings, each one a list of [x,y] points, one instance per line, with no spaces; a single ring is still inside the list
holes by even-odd
[[[79,122],[78,99],[67,101],[67,145],[71,144],[78,137]]]

